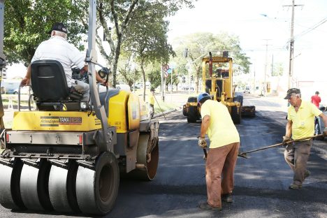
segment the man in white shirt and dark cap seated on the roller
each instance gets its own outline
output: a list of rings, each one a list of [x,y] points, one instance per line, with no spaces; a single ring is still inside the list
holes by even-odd
[[[61,22],[57,22],[52,26],[49,31],[50,38],[47,41],[43,41],[34,53],[34,57],[31,62],[37,60],[52,59],[57,60],[63,66],[68,87],[74,87],[77,92],[83,94],[81,101],[89,101],[89,84],[73,80],[71,66],[75,65],[81,70],[87,71],[87,65],[85,65],[85,56],[74,45],[66,41],[68,30]],[[20,83],[21,86],[29,85],[31,80],[31,64],[27,68],[27,73]],[[96,81],[101,82],[104,85],[106,80],[103,80],[98,73],[96,73]]]

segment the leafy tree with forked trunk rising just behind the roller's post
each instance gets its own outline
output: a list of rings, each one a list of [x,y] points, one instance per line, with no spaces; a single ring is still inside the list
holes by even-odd
[[[107,59],[108,64],[112,66],[112,82],[114,87],[119,55],[121,54],[121,50],[124,50],[124,48],[122,48],[122,44],[124,43],[124,46],[136,49],[136,45],[134,43],[137,42],[137,40],[143,40],[143,37],[140,36],[141,33],[146,31],[145,36],[150,36],[150,34],[153,32],[151,40],[147,41],[147,43],[149,43],[147,48],[151,48],[152,45],[155,45],[158,42],[163,46],[159,48],[161,51],[154,51],[153,49],[150,49],[152,52],[147,50],[147,54],[150,53],[150,55],[155,57],[155,59],[163,59],[163,57],[167,57],[166,54],[170,53],[171,48],[169,48],[167,43],[164,43],[164,37],[156,38],[156,36],[159,36],[159,33],[166,29],[167,26],[167,22],[161,22],[162,19],[160,17],[174,15],[177,10],[182,8],[182,6],[191,7],[192,1],[193,0],[98,1],[98,17],[103,27],[103,31],[107,36],[106,39],[110,45],[110,53],[106,52],[106,50],[103,48],[103,41],[101,41],[101,37],[99,35],[97,37],[97,43],[99,43],[101,54]],[[159,22],[154,22],[151,24],[150,20]],[[108,22],[112,23],[113,27],[109,27]],[[126,43],[126,41],[129,41],[131,45]],[[130,50],[130,48],[128,50]],[[156,52],[157,54],[154,54]],[[163,52],[160,57],[158,57],[159,52]]]

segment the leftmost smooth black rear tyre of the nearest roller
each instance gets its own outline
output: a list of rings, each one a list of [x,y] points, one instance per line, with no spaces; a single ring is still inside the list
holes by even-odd
[[[23,163],[16,159],[11,166],[0,164],[0,204],[3,208],[26,209],[20,196],[20,174]]]

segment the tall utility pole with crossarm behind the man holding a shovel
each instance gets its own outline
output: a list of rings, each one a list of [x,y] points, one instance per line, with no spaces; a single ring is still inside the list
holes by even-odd
[[[289,89],[293,87],[293,60],[294,60],[294,7],[303,6],[296,5],[295,0],[292,0],[292,5],[284,7],[292,7],[292,17],[291,17],[291,39],[289,41]]]

